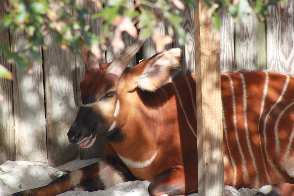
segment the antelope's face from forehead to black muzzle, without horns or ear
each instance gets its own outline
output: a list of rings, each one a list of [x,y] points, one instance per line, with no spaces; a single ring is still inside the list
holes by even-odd
[[[69,142],[88,148],[116,128],[119,113],[116,75],[99,69],[86,71],[81,80],[81,108],[67,133]]]

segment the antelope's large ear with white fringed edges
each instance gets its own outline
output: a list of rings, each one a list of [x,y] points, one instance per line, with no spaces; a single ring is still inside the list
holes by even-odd
[[[156,91],[168,83],[181,66],[182,50],[173,48],[148,59],[145,70],[137,80],[143,91]]]

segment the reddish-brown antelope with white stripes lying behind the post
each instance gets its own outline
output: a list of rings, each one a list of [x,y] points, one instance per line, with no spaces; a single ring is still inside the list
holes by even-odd
[[[82,148],[106,138],[103,158],[13,195],[95,191],[130,180],[150,181],[151,196],[198,190],[195,75],[176,76],[178,48],[127,67],[142,43],[137,38],[111,64],[82,50],[81,107],[67,135]],[[292,194],[294,78],[223,73],[221,92],[225,185]]]

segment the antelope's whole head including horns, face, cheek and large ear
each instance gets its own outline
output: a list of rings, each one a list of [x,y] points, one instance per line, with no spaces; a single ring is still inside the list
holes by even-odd
[[[129,113],[136,110],[133,103],[140,103],[138,89],[156,91],[180,67],[181,50],[175,48],[127,68],[142,44],[143,40],[137,38],[111,64],[99,62],[91,53],[83,55],[88,61],[83,61],[82,103],[67,134],[70,143],[88,148],[96,139],[116,138],[114,133],[121,133],[122,127],[133,129],[129,124],[138,116]]]

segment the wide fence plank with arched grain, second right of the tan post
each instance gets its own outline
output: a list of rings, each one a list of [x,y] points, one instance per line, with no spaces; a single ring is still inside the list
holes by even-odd
[[[250,14],[248,22],[235,24],[235,66],[249,71],[266,67],[265,24],[256,14]]]

